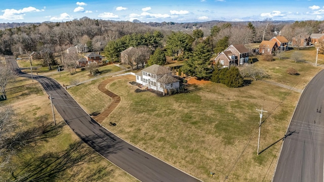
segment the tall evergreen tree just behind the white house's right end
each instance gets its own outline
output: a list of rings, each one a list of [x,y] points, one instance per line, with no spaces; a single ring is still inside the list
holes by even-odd
[[[182,71],[199,79],[209,79],[211,76],[212,53],[206,43],[199,43],[192,55],[184,62]]]

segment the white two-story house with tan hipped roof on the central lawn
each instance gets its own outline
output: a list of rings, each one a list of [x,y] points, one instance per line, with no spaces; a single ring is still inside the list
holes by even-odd
[[[171,90],[178,91],[180,88],[180,80],[172,76],[172,71],[156,64],[136,73],[136,82],[148,89],[163,93],[169,93]]]

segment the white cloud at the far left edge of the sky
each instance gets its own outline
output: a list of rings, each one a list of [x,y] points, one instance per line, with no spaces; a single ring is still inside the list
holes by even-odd
[[[2,10],[1,12],[4,12],[3,15],[0,15],[0,19],[5,19],[5,20],[23,20],[25,13],[31,13],[31,12],[41,12],[45,10],[38,10],[34,7],[28,7],[28,8],[23,8],[20,10],[15,10],[15,9],[6,9]]]

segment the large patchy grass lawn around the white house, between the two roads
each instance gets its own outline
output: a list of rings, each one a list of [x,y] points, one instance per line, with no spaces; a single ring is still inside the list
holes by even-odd
[[[295,63],[289,59],[294,51],[285,52],[280,60],[274,57],[273,62],[258,58],[255,64],[269,74],[268,80],[304,88],[321,67]],[[314,61],[310,59],[314,50],[300,51],[305,60]],[[323,61],[319,55],[319,64]],[[289,75],[290,67],[300,75]],[[263,117],[261,151],[285,134],[299,93],[257,80],[241,88],[207,83],[196,85],[187,94],[157,97],[149,92],[135,93],[135,87],[127,84],[134,80],[121,77],[107,85],[121,97],[116,110],[102,123],[112,132],[204,181],[223,181],[226,176],[231,181],[271,181],[282,143],[256,155],[256,109],[268,111]],[[82,89],[96,93],[98,84],[89,83]],[[84,100],[77,90],[72,94],[78,102]],[[108,103],[97,104],[103,108]],[[117,127],[110,127],[110,121]],[[211,171],[216,175],[210,176]]]

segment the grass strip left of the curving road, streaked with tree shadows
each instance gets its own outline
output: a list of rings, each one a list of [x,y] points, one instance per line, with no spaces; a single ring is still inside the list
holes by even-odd
[[[16,78],[2,106],[15,109],[15,121],[26,145],[0,168],[3,181],[137,181],[84,144],[55,112],[38,82]],[[37,117],[46,116],[45,132]]]

